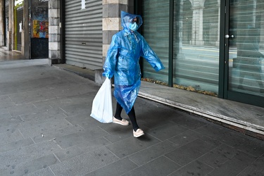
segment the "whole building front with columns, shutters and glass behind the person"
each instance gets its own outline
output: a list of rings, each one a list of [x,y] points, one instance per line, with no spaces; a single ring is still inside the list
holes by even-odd
[[[156,73],[142,58],[144,80],[264,107],[263,0],[1,0],[0,7],[1,46],[89,70],[102,68],[122,30],[120,11],[140,14],[139,32],[165,65]]]

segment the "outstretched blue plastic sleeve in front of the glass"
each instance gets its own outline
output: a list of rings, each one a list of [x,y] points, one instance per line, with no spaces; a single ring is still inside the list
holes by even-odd
[[[146,42],[144,37],[142,37],[142,54],[141,54],[141,56],[146,58],[146,61],[148,61],[156,71],[159,71],[159,70],[165,68],[163,63],[161,63],[161,59],[158,58],[157,54],[151,49],[151,47]]]

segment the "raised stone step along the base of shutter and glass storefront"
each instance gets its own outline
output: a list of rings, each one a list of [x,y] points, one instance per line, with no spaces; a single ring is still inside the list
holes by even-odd
[[[95,73],[87,69],[67,64],[55,67],[94,80]],[[264,139],[264,108],[144,81],[139,96],[201,115],[234,130]]]

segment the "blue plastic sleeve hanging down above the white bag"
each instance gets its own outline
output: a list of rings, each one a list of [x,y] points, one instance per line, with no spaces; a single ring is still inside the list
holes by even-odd
[[[113,74],[115,73],[115,64],[117,61],[118,56],[118,49],[119,49],[119,42],[118,37],[115,35],[112,37],[112,42],[109,46],[107,55],[106,55],[106,61],[103,64],[103,76],[111,78],[113,77]]]

